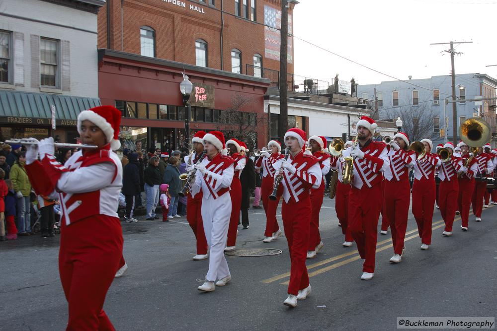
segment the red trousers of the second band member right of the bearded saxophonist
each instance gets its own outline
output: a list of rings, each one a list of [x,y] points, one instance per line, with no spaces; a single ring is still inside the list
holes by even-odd
[[[431,245],[431,223],[433,207],[435,206],[435,179],[414,179],[413,184],[413,215],[421,243]]]

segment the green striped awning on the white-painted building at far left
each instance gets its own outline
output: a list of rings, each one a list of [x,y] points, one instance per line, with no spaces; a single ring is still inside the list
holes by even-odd
[[[98,98],[73,97],[58,94],[0,90],[0,117],[52,118],[54,105],[57,120],[77,120],[83,110],[100,106]]]

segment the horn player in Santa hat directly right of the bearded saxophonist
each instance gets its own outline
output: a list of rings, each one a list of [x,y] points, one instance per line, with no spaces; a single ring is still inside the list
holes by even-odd
[[[398,132],[394,135],[393,140],[387,154],[390,166],[384,172],[385,195],[383,203],[390,220],[394,246],[394,256],[390,258],[390,262],[399,263],[402,261],[411,202],[409,170],[416,160],[416,155],[414,151],[408,150],[409,137],[406,133]]]

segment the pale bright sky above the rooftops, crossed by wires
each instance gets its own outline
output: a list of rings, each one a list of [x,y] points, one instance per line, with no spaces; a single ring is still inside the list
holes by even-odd
[[[497,0],[299,0],[294,17],[295,74],[358,84],[394,80],[332,55],[316,44],[364,66],[399,79],[450,74],[450,45],[455,72],[487,73],[497,78]]]

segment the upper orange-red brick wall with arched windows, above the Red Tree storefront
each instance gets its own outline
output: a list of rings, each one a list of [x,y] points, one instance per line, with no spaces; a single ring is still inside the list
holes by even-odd
[[[182,2],[185,7],[173,4],[172,1]],[[253,0],[248,1],[249,15],[250,1]],[[240,2],[243,3],[243,0]],[[220,11],[221,0],[215,0],[215,7],[196,0],[124,0],[122,3],[121,8],[121,0],[107,0],[107,6],[98,12],[98,48],[139,55],[140,27],[146,25],[156,31],[156,57],[159,59],[195,65],[195,40],[203,39],[208,45],[208,67],[231,71],[231,50],[236,48],[242,52],[242,73],[247,73],[247,64],[253,65],[254,54],[262,56],[263,67],[279,71],[279,61],[264,56],[264,26],[257,24],[264,22],[265,5],[280,10],[279,0],[256,0],[257,23],[228,14],[235,13],[235,0],[224,0],[224,27]],[[190,9],[190,5],[196,6],[203,13]],[[110,8],[109,24],[107,7]],[[292,14],[293,7],[294,4],[291,3],[289,14]],[[293,31],[291,25],[290,29]],[[107,31],[110,31],[109,36]],[[293,58],[293,54],[291,56]],[[292,63],[288,64],[288,72],[293,73]]]

